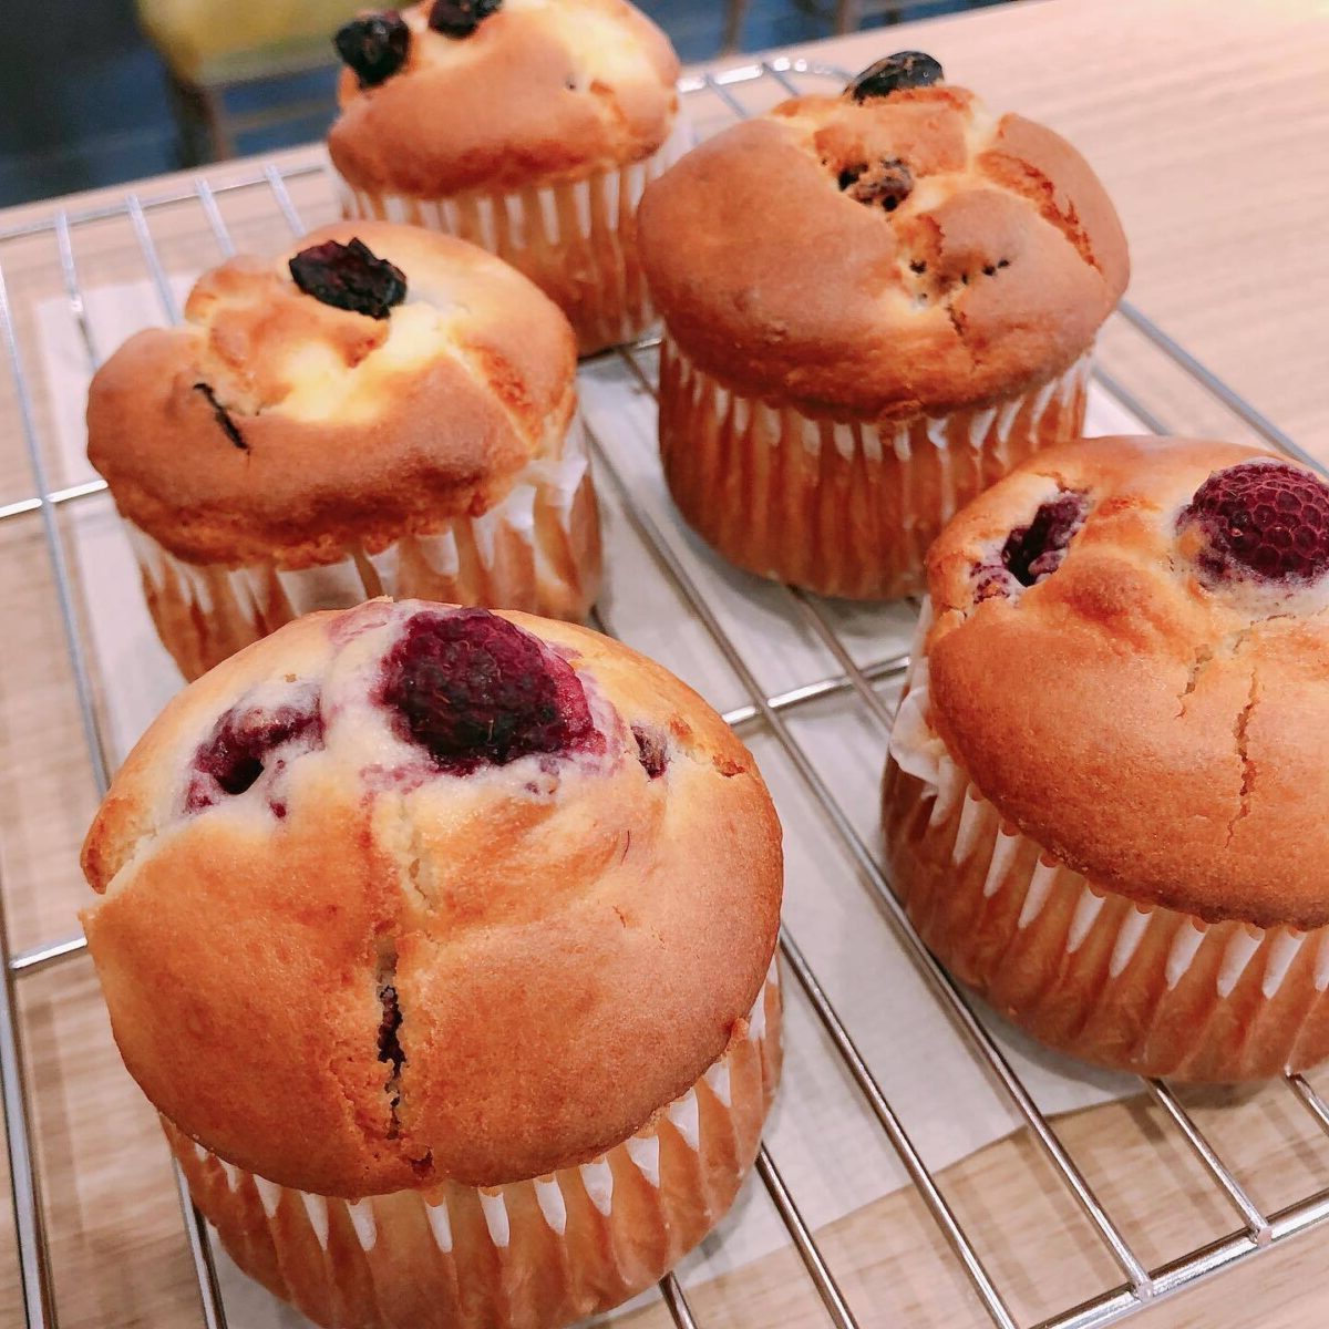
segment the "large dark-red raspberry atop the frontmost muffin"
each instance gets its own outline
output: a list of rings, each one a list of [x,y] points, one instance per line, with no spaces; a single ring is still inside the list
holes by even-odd
[[[453,775],[598,739],[571,666],[485,609],[416,614],[384,659],[380,700]]]

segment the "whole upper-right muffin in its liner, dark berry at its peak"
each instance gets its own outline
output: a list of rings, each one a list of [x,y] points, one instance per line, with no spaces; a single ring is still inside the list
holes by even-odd
[[[1083,158],[918,52],[735,125],[651,185],[674,500],[748,571],[921,587],[941,526],[1076,437],[1126,241]]]

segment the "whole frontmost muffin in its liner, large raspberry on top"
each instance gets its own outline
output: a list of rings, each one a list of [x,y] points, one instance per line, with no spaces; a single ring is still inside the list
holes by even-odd
[[[553,1326],[728,1208],[780,1070],[780,827],[658,664],[524,614],[312,614],[178,695],[84,847],[125,1065],[322,1325]]]

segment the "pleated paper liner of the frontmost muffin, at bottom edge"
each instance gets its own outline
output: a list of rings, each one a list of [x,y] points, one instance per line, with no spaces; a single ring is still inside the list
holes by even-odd
[[[719,1221],[779,1075],[772,960],[746,1030],[692,1088],[601,1158],[549,1176],[348,1201],[276,1185],[162,1124],[235,1263],[318,1324],[557,1329],[650,1286]]]

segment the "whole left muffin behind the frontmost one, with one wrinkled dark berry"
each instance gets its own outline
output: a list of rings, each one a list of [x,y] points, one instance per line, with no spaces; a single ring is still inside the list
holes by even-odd
[[[567,320],[489,254],[358,222],[205,274],[88,397],[186,678],[379,594],[585,617],[599,517]]]

